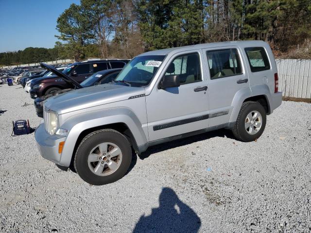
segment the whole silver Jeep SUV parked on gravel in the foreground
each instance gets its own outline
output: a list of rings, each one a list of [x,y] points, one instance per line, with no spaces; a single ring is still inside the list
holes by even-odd
[[[139,154],[221,128],[254,141],[281,102],[276,62],[263,41],[155,50],[132,59],[113,84],[46,100],[35,140],[44,158],[101,185],[121,179],[132,149]]]

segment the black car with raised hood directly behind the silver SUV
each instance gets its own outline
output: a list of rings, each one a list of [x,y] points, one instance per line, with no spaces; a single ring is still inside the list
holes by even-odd
[[[106,69],[106,70],[102,70],[102,71],[99,71],[97,73],[94,73],[90,77],[88,77],[85,81],[80,83],[81,86],[75,86],[75,89],[85,88],[85,87],[89,87],[89,86],[93,86],[93,85],[101,85],[104,83],[111,83],[117,77],[117,75],[120,73],[121,70],[122,70],[121,68]],[[66,75],[66,77],[67,78],[63,78],[63,79],[66,82],[73,84],[70,80],[71,78],[68,77],[67,75]],[[60,95],[60,94],[63,94],[63,93],[66,93],[66,92],[69,92],[69,91],[72,91],[75,89],[72,89],[72,88],[63,89],[63,90],[60,90],[57,92],[53,92],[53,93],[46,95],[46,96],[37,97],[34,101],[35,111],[36,111],[37,116],[43,118],[43,102],[44,102],[44,100],[47,100],[48,98],[50,98],[52,96]]]

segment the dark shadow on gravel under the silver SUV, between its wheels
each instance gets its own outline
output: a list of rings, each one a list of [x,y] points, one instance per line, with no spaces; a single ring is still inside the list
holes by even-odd
[[[143,160],[143,159],[148,158],[150,155],[161,152],[163,150],[169,150],[169,149],[173,149],[176,147],[185,146],[185,145],[188,145],[194,142],[204,141],[204,140],[207,140],[213,137],[228,137],[228,138],[234,139],[234,136],[230,130],[220,129],[220,130],[215,130],[215,131],[202,133],[202,134],[198,134],[195,136],[186,137],[183,139],[177,139],[171,142],[166,142],[163,144],[155,145],[155,146],[148,148],[148,150],[146,150],[145,152],[142,152],[138,156],[141,160]]]

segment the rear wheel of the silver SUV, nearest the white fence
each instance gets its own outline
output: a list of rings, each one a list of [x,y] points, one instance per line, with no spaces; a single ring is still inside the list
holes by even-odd
[[[254,118],[256,119],[254,120]],[[239,141],[255,141],[263,133],[266,126],[266,120],[266,111],[259,102],[244,102],[237,121],[232,128],[232,133]],[[249,126],[249,128],[247,128],[247,126]]]

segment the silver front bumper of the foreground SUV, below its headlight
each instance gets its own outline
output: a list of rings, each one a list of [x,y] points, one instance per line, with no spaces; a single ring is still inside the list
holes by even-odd
[[[50,135],[47,133],[44,128],[44,123],[40,124],[35,129],[35,141],[41,156],[55,164],[68,167],[68,164],[62,164],[61,154],[58,153],[59,143],[65,140],[66,137],[61,137],[55,134]]]

